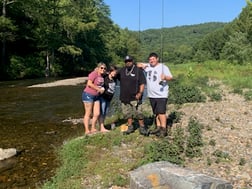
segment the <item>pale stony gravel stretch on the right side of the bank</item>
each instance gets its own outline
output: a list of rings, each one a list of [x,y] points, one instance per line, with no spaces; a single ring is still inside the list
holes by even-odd
[[[179,110],[184,114],[179,125],[187,126],[193,116],[205,126],[203,156],[188,159],[186,167],[228,180],[234,189],[251,189],[252,102],[226,86],[221,89],[221,101],[184,104]]]

